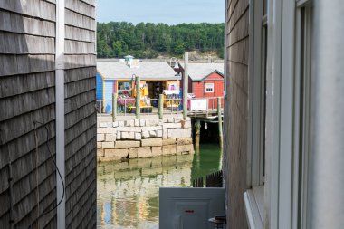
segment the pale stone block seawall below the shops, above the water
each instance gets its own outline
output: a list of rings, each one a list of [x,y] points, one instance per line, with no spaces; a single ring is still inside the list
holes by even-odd
[[[194,152],[191,132],[191,119],[184,120],[180,115],[164,119],[129,117],[115,122],[99,118],[97,156],[100,161],[109,161],[122,157],[190,154]]]

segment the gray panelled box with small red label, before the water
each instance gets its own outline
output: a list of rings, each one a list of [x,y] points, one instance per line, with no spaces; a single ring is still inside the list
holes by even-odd
[[[160,187],[160,229],[210,229],[215,215],[225,214],[223,187]]]

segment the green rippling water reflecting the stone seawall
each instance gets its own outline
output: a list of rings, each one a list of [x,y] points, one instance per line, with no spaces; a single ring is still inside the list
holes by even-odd
[[[201,145],[194,155],[99,163],[98,228],[158,228],[158,188],[191,186],[220,170],[220,157],[217,145]]]

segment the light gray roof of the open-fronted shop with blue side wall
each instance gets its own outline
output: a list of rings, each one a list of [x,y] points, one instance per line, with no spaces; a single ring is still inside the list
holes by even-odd
[[[104,79],[110,80],[130,80],[133,74],[141,80],[180,80],[176,72],[167,62],[140,62],[139,69],[126,65],[125,62],[97,61],[97,72]]]

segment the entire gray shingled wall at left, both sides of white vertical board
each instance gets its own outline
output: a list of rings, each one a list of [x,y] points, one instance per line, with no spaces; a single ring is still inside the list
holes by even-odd
[[[95,228],[95,1],[65,3],[66,224]],[[0,1],[0,228],[10,228],[11,213],[14,228],[28,228],[56,205],[46,131],[33,124],[48,127],[55,155],[55,12],[55,0]],[[39,228],[55,227],[55,212],[39,221]]]

